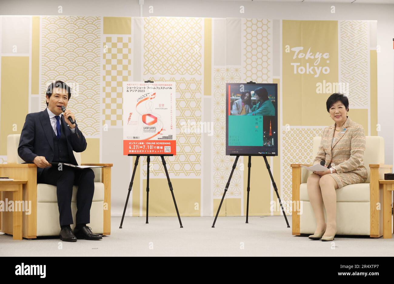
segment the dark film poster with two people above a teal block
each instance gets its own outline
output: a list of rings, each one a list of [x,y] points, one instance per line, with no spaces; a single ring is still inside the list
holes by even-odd
[[[226,83],[226,155],[278,155],[278,85]]]

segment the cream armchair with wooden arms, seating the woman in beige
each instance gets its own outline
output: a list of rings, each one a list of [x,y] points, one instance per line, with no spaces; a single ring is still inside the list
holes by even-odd
[[[312,157],[317,155],[320,140],[320,136],[313,138]],[[349,184],[336,190],[336,234],[369,235],[371,238],[383,235],[383,192],[379,189],[379,179],[384,179],[384,173],[392,170],[392,165],[384,165],[384,152],[382,137],[366,136],[364,165],[368,179],[365,183]],[[316,219],[307,191],[307,179],[312,172],[301,168],[301,164],[291,164],[291,167],[292,234],[313,234]],[[324,216],[327,221],[325,209]]]

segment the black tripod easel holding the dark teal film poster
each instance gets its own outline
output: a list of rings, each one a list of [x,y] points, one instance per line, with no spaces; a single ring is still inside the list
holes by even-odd
[[[256,84],[256,83],[253,82],[253,81],[249,81],[249,82],[247,82],[247,84]],[[231,156],[234,156],[234,155],[231,155]],[[244,155],[242,155],[242,156],[244,156]],[[283,213],[284,219],[286,220],[287,227],[290,228],[289,222],[287,221],[286,213],[284,213],[284,209],[283,209],[283,206],[282,206],[281,197],[279,197],[278,188],[277,188],[277,186],[276,186],[275,181],[273,180],[273,176],[272,176],[271,169],[270,169],[270,167],[269,167],[269,164],[268,164],[268,160],[267,160],[267,156],[266,156],[266,155],[248,155],[248,157],[249,157],[249,162],[248,162],[248,164],[247,164],[248,170],[247,170],[246,223],[248,223],[248,217],[249,217],[250,168],[251,168],[251,165],[252,165],[252,162],[251,162],[251,159],[252,159],[252,158],[251,158],[251,156],[262,156],[262,157],[264,158],[264,161],[266,162],[266,167],[267,167],[267,170],[268,170],[268,173],[269,173],[269,177],[271,177],[272,186],[273,186],[273,188],[275,189],[276,196],[278,197],[278,199],[279,199],[279,204],[281,205],[281,209],[282,209],[282,213]],[[216,217],[215,217],[214,223],[212,224],[212,228],[215,228],[215,223],[216,223],[217,216],[219,215],[219,211],[220,211],[221,205],[222,205],[222,203],[223,203],[223,199],[224,199],[224,197],[225,197],[225,195],[226,195],[226,192],[227,192],[227,190],[229,189],[230,181],[231,181],[231,178],[232,178],[232,174],[234,173],[234,170],[235,170],[235,168],[236,168],[236,166],[237,166],[237,162],[238,162],[239,157],[240,157],[240,155],[236,155],[235,162],[234,162],[234,164],[232,165],[232,170],[231,170],[231,173],[230,173],[230,177],[229,177],[229,180],[227,181],[226,187],[225,187],[225,189],[224,189],[223,196],[222,196],[222,199],[221,199],[220,204],[219,204],[219,208],[217,208]]]

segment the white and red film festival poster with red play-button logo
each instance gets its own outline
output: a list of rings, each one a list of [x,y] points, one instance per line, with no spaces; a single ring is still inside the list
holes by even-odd
[[[123,155],[176,155],[175,82],[123,82]]]

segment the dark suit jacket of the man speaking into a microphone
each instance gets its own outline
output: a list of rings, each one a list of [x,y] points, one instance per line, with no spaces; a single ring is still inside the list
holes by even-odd
[[[75,127],[75,133],[71,133],[64,117],[61,117],[61,135],[66,135],[69,149],[70,162],[78,165],[74,153],[85,151],[87,143],[84,135]],[[54,156],[53,136],[54,132],[50,124],[48,111],[45,109],[40,112],[33,112],[26,115],[26,121],[20,134],[18,155],[27,163],[33,163],[37,156],[44,156],[48,162],[52,162]],[[37,168],[38,176],[43,172],[42,168]]]

